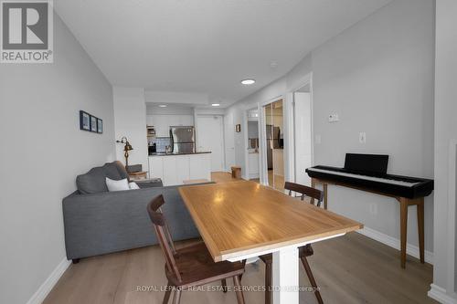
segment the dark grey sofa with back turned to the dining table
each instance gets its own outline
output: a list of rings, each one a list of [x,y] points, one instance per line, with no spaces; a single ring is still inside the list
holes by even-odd
[[[78,190],[63,199],[67,258],[74,263],[91,257],[157,244],[146,205],[159,194],[174,240],[198,237],[198,231],[178,193],[178,186],[138,183],[139,190],[108,192],[105,177],[127,176],[122,164],[111,162],[77,177]]]

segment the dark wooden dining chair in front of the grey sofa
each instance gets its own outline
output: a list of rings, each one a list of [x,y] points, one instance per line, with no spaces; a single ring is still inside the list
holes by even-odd
[[[223,291],[227,292],[227,278],[233,278],[239,304],[244,304],[240,277],[244,265],[228,261],[215,263],[203,242],[176,249],[170,230],[162,213],[164,196],[158,195],[147,205],[147,212],[154,225],[155,234],[165,256],[165,276],[168,279],[164,304],[168,303],[172,289],[175,290],[173,303],[179,303],[182,289],[202,286],[220,280]]]

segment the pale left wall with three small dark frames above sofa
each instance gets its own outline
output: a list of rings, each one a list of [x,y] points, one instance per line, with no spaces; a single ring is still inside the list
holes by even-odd
[[[1,303],[26,303],[68,265],[62,198],[114,160],[112,86],[57,15],[54,28],[53,64],[0,65]],[[79,110],[104,133],[80,131]]]

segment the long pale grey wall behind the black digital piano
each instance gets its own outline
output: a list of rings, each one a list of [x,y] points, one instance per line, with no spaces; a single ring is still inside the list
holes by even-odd
[[[345,152],[388,153],[389,173],[432,178],[433,6],[428,0],[386,5],[226,113],[233,115],[235,124],[241,123],[243,110],[286,96],[313,72],[314,135],[322,136],[322,143],[314,144],[314,163],[343,166]],[[341,121],[330,124],[327,115],[333,111]],[[358,143],[359,131],[367,132],[366,144]],[[244,168],[243,136],[243,132],[235,133],[234,142],[236,162]],[[287,149],[287,138],[284,144]],[[369,213],[367,203],[376,204],[377,215]],[[389,198],[330,187],[329,209],[399,238],[399,204]],[[409,212],[408,241],[418,245],[415,209]],[[432,226],[430,195],[425,204],[425,248],[429,251]]]

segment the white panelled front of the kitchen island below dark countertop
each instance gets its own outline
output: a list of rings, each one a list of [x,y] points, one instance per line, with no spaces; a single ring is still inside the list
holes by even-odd
[[[149,177],[165,186],[189,180],[211,181],[211,152],[154,153],[149,155]]]

